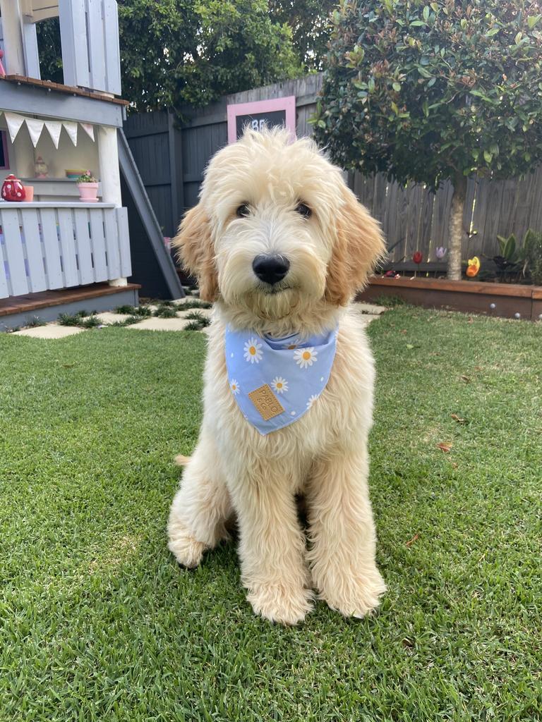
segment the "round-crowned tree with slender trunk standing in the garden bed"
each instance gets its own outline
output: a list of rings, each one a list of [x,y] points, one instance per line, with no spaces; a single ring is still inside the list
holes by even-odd
[[[341,0],[317,139],[335,161],[454,186],[448,276],[461,277],[469,175],[542,160],[542,9],[528,0]]]

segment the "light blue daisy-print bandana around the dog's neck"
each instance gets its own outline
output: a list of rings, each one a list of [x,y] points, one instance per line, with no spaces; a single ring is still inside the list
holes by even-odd
[[[301,419],[324,391],[337,347],[337,329],[301,341],[253,331],[225,331],[231,393],[262,435]]]

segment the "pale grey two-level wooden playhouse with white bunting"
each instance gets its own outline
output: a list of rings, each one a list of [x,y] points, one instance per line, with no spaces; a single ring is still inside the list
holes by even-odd
[[[64,83],[40,77],[36,24],[58,17]],[[0,0],[0,328],[28,316],[137,303],[117,129],[121,92],[115,0]],[[98,197],[79,197],[89,173]]]

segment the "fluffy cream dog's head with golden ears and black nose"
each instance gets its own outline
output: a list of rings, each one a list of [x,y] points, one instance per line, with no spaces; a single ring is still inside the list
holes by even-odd
[[[345,305],[384,252],[340,169],[282,129],[212,158],[174,244],[202,299],[270,321]]]

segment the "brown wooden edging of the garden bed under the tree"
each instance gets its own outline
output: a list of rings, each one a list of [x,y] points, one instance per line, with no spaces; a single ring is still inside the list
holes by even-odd
[[[519,313],[520,318],[527,320],[542,319],[542,286],[373,276],[357,300],[372,302],[383,296],[399,297],[426,308],[450,308],[503,318],[517,318]]]

